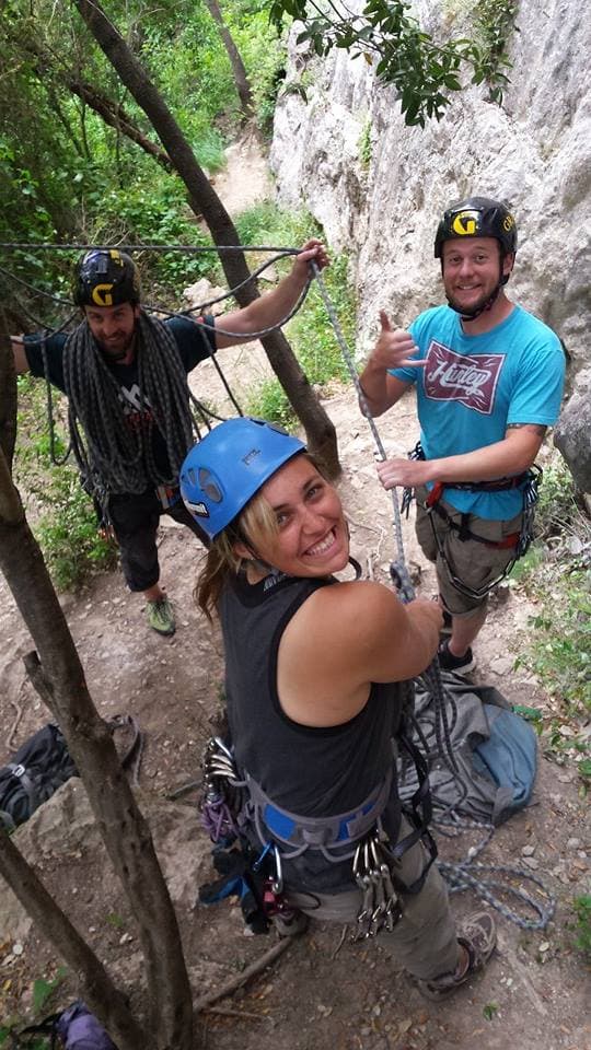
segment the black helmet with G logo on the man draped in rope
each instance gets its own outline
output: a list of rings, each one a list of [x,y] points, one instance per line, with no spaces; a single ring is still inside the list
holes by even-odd
[[[80,259],[73,287],[77,306],[135,306],[140,296],[139,270],[125,252],[91,248]]]

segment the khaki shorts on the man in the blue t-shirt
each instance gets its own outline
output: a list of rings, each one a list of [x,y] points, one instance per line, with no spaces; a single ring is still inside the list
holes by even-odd
[[[439,553],[438,545],[433,536],[433,525],[439,537],[439,542],[445,553],[451,572],[462,581],[463,584],[473,591],[479,591],[494,583],[501,575],[510,561],[515,557],[514,547],[495,548],[486,547],[475,539],[460,539],[456,529],[450,528],[449,524],[433,511],[431,514],[425,509],[425,501],[428,490],[421,486],[416,490],[417,518],[416,533],[424,555],[429,561],[434,562],[437,579],[439,583],[439,593],[443,605],[452,616],[470,616],[476,609],[486,604],[487,596],[482,598],[470,597],[457,590],[450,579],[450,570],[445,561]],[[461,524],[462,514],[456,511],[445,500],[440,501],[441,506],[450,515],[451,520]],[[522,515],[511,517],[506,522],[491,522],[484,517],[470,515],[468,528],[476,536],[483,536],[493,542],[499,542],[511,533],[521,530]],[[432,525],[431,525],[432,522]]]

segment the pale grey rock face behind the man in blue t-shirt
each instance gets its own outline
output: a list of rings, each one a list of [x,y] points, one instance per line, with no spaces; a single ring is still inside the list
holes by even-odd
[[[424,25],[437,5],[422,4]],[[278,198],[305,206],[333,247],[351,253],[360,355],[380,307],[406,325],[441,300],[438,217],[478,194],[503,198],[518,220],[510,294],[557,331],[573,371],[589,361],[590,20],[567,0],[523,0],[518,28],[502,107],[471,88],[425,130],[404,125],[364,61],[333,52],[321,62],[292,34],[271,151]]]

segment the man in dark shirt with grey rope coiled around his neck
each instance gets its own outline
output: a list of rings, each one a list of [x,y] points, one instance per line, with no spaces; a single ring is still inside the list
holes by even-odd
[[[187,373],[216,350],[248,342],[286,317],[305,287],[311,259],[321,269],[327,265],[320,241],[303,246],[277,288],[218,320],[161,322],[140,305],[134,260],[116,249],[91,249],[76,272],[82,324],[71,335],[12,340],[16,372],[47,375],[67,395],[82,485],[119,545],[127,585],[143,594],[148,623],[160,634],[175,631],[160,584],[160,515],[170,514],[204,539],[178,495],[178,469],[194,443]]]

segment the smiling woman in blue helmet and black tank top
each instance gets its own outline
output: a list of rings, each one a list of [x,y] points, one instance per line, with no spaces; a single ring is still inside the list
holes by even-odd
[[[457,936],[392,757],[439,607],[335,580],[349,562],[339,497],[302,442],[263,420],[217,427],[186,457],[181,491],[211,540],[197,602],[222,627],[240,821],[275,856],[268,914],[380,932],[425,994],[452,992],[490,957],[494,922],[474,915]]]

